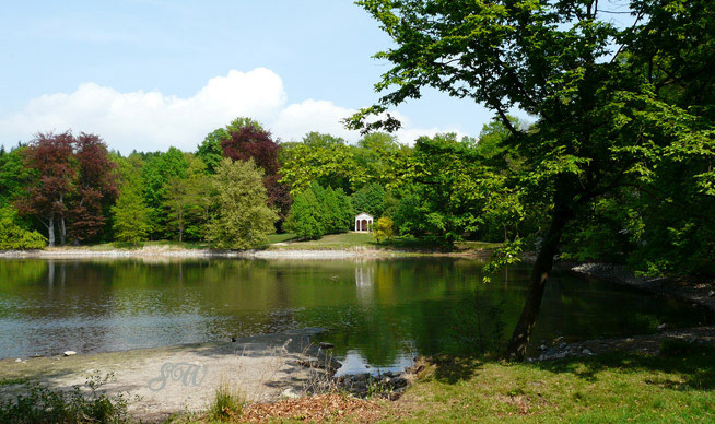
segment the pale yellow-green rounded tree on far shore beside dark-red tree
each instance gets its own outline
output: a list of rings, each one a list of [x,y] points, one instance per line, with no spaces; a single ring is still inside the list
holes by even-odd
[[[267,205],[263,173],[253,160],[224,158],[214,176],[216,213],[207,239],[219,249],[249,249],[266,243],[276,228],[276,211]]]

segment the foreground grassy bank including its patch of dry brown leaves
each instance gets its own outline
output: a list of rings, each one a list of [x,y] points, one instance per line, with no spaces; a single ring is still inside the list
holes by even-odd
[[[237,407],[223,419],[211,403],[213,410],[168,423],[712,423],[714,388],[715,349],[695,343],[667,342],[658,355],[523,364],[445,356],[426,362],[397,401],[341,393],[272,404],[232,398]]]

